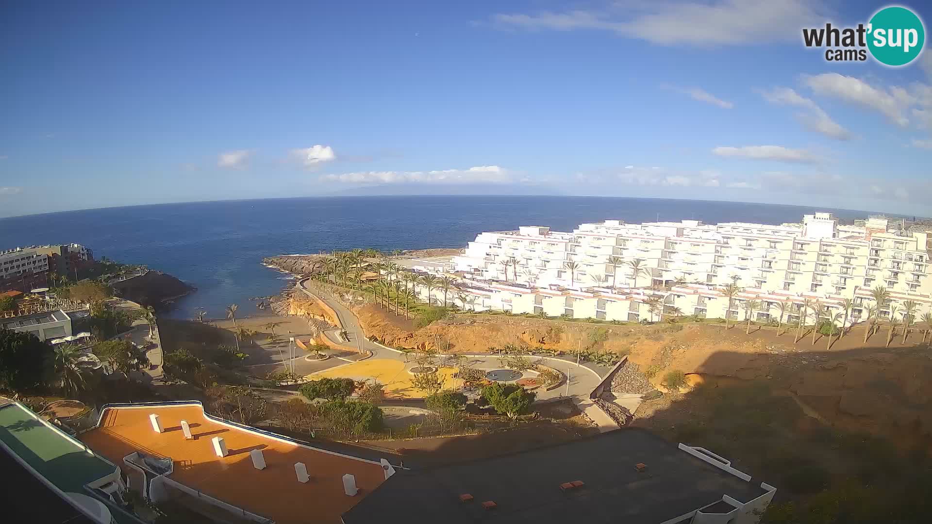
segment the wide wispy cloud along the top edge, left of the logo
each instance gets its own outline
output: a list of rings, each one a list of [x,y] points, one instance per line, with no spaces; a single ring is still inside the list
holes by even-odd
[[[712,0],[498,14],[492,21],[528,30],[610,31],[665,46],[726,46],[798,40],[802,27],[824,23],[826,15],[816,0]]]

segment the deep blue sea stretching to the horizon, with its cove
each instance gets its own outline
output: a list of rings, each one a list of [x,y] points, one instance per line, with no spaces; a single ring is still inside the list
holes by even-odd
[[[695,218],[708,223],[798,222],[832,211],[798,206],[596,197],[412,196],[330,197],[160,204],[34,214],[0,219],[0,250],[78,242],[94,255],[145,264],[191,283],[170,315],[211,318],[227,304],[256,314],[253,296],[278,293],[287,275],[262,266],[263,256],[375,247],[381,250],[462,247],[480,231],[518,226],[571,230],[603,219],[628,222]]]

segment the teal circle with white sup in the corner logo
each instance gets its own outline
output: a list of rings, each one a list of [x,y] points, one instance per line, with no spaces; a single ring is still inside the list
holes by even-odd
[[[868,25],[868,48],[878,62],[899,66],[912,62],[923,52],[925,27],[906,7],[884,7]]]

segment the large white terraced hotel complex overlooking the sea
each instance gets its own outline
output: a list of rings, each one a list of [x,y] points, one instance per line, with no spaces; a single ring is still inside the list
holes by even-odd
[[[874,218],[865,226],[839,226],[828,213],[781,226],[606,220],[572,232],[537,226],[484,232],[460,255],[404,265],[455,275],[461,289],[450,292],[450,301],[468,310],[637,322],[658,320],[647,305],[656,297],[667,313],[744,320],[742,303],[759,300],[763,307],[754,319],[767,321],[776,320],[776,304],[787,301],[784,321],[795,322],[806,298],[818,299],[830,315],[843,312],[843,299],[851,298],[853,324],[874,305],[870,288],[883,285],[891,300],[882,305],[882,316],[913,300],[918,318],[932,310],[932,232],[903,236],[887,229],[885,219]],[[624,263],[612,266],[612,256]],[[644,268],[638,275],[629,266],[636,259]],[[568,262],[578,268],[570,272]],[[728,283],[742,291],[726,313],[728,298],[719,288]],[[423,287],[418,293],[426,298]],[[442,300],[436,288],[432,295]]]

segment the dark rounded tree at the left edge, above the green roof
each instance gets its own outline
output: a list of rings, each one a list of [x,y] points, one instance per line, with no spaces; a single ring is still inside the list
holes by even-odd
[[[0,389],[24,392],[40,387],[51,353],[32,333],[0,328]]]

